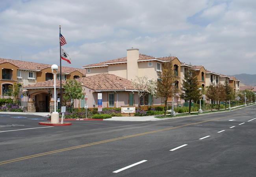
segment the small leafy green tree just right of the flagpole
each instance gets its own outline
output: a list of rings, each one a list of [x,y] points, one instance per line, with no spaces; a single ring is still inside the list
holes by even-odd
[[[76,99],[83,99],[84,94],[82,93],[82,85],[76,80],[66,81],[66,84],[63,85],[66,93],[64,94],[65,100],[71,100],[71,104],[74,103]],[[74,106],[74,104],[72,104]]]

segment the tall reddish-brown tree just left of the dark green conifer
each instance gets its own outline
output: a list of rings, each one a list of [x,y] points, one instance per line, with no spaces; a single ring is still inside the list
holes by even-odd
[[[175,87],[175,81],[177,80],[177,75],[174,72],[173,62],[171,61],[171,55],[169,56],[169,61],[167,61],[162,69],[162,72],[158,75],[158,97],[164,98],[165,103],[165,115],[167,111],[167,99],[171,98],[178,92]]]

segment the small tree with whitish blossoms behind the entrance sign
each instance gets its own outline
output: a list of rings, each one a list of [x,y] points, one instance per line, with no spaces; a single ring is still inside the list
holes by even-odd
[[[134,89],[138,92],[139,103],[138,107],[141,107],[141,99],[144,98],[145,94],[150,94],[153,98],[156,96],[156,82],[152,79],[148,79],[148,76],[135,76],[136,78],[132,80],[132,85]]]

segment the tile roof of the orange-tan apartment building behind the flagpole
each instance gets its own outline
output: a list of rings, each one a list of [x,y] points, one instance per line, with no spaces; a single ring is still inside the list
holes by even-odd
[[[20,61],[20,60],[11,60],[11,59],[0,58],[0,64],[6,63],[6,62],[13,64],[20,69],[34,70],[34,71],[51,68],[51,66],[52,66],[52,65],[43,64],[43,63],[34,63],[34,62],[29,62],[29,61]],[[82,69],[82,68],[71,68],[71,67],[61,66],[62,73],[72,73],[76,70],[81,72],[83,75],[86,74],[86,70]],[[58,69],[58,72],[60,72],[60,67]]]

